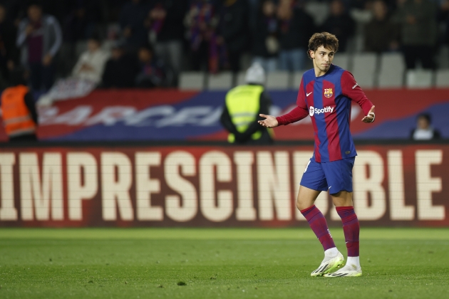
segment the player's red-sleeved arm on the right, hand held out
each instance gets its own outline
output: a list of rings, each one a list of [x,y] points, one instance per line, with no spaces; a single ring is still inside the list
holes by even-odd
[[[374,105],[371,100],[366,98],[365,93],[360,86],[358,86],[356,79],[349,71],[345,70],[341,75],[341,91],[343,95],[356,102],[363,110],[362,122],[370,123],[376,118],[374,114]]]

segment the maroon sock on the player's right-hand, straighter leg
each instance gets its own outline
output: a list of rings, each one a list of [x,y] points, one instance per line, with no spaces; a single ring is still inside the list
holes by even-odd
[[[358,234],[360,225],[353,206],[337,206],[337,213],[343,222],[344,239],[346,248],[348,248],[348,256],[358,256]]]

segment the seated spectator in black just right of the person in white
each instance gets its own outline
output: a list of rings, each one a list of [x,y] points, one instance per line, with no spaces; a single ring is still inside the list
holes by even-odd
[[[125,46],[117,43],[113,46],[111,57],[103,72],[103,88],[132,88],[138,74],[138,63],[134,56],[125,52]]]

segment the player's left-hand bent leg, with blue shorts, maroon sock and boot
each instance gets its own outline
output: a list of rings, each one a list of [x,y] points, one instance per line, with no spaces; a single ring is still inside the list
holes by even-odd
[[[301,186],[299,187],[296,200],[296,207],[309,222],[309,226],[324,248],[324,260],[311,273],[311,276],[322,276],[344,263],[343,255],[335,246],[324,215],[314,205],[316,197],[319,196],[321,191],[326,189],[326,177],[324,177],[321,165],[312,158],[301,179]]]

